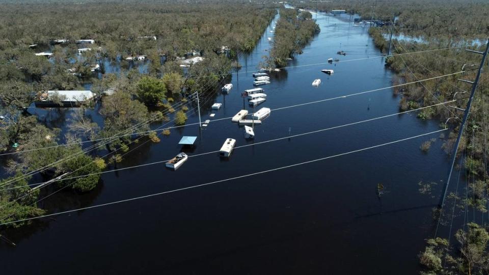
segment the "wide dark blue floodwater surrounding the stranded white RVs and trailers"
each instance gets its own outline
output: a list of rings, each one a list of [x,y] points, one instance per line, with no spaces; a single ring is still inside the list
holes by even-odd
[[[315,16],[316,17],[316,16]],[[275,19],[277,20],[277,19]],[[275,21],[274,20],[274,21]],[[317,15],[321,32],[295,56],[291,68],[270,75],[262,86],[272,109],[391,86],[392,73],[376,57],[366,28],[341,17]],[[213,119],[231,117],[251,89],[252,71],[268,54],[272,22],[256,49],[239,63],[229,95],[209,97],[223,107]],[[343,50],[346,56],[338,56]],[[321,63],[320,65],[314,65]],[[292,67],[293,66],[293,67]],[[320,72],[334,69],[333,75]],[[319,87],[312,87],[320,78]],[[228,138],[237,146],[343,125],[399,112],[391,89],[272,111],[256,138],[230,120],[172,129],[160,143],[140,143],[117,168],[170,159],[182,135],[198,135],[189,155],[219,150]],[[205,100],[204,100],[205,101]],[[252,111],[252,108],[246,106]],[[197,113],[187,124],[198,122]],[[439,130],[438,121],[405,114],[275,142],[235,149],[229,160],[218,153],[191,157],[178,171],[164,164],[102,175],[87,194],[62,191],[42,202],[49,212],[87,207],[131,197],[272,170]],[[237,178],[101,208],[44,219],[3,232],[17,246],[0,243],[4,274],[134,273],[397,273],[418,272],[417,254],[432,237],[448,158],[440,133],[278,171]],[[420,145],[435,139],[427,153]],[[431,195],[420,181],[437,182]],[[384,192],[377,195],[377,184]]]

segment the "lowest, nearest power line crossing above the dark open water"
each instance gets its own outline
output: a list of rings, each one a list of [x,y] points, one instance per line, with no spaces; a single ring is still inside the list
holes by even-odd
[[[401,139],[401,140],[396,140],[396,141],[392,141],[392,142],[388,142],[388,143],[383,143],[383,144],[378,144],[378,145],[374,145],[374,146],[370,146],[370,147],[365,147],[365,148],[354,150],[354,151],[349,151],[349,152],[340,153],[340,154],[336,154],[336,155],[331,155],[331,156],[327,156],[327,157],[317,158],[317,159],[308,160],[308,161],[304,161],[304,162],[300,162],[300,163],[290,164],[288,166],[283,166],[283,167],[279,167],[279,168],[274,168],[274,169],[269,169],[269,170],[265,170],[265,171],[255,172],[255,173],[251,173],[251,174],[241,175],[241,176],[237,176],[237,177],[233,177],[233,178],[227,178],[227,179],[222,179],[222,180],[207,182],[207,183],[203,183],[203,184],[199,184],[199,185],[193,185],[193,186],[188,186],[188,187],[173,189],[173,190],[169,190],[169,191],[163,191],[163,192],[159,192],[159,193],[153,193],[153,194],[150,194],[150,195],[145,195],[145,196],[140,196],[140,197],[134,197],[134,198],[120,200],[120,201],[114,201],[114,202],[110,202],[110,203],[97,204],[97,205],[93,205],[93,206],[82,207],[82,208],[72,209],[72,210],[67,210],[67,211],[62,211],[62,212],[58,212],[58,213],[51,213],[51,214],[41,215],[41,216],[37,216],[37,217],[30,217],[30,218],[19,219],[17,221],[11,221],[11,222],[7,222],[7,223],[2,223],[2,224],[0,224],[0,226],[2,226],[2,225],[8,225],[8,224],[14,224],[14,223],[20,223],[20,222],[26,222],[26,221],[31,221],[33,219],[39,219],[39,218],[49,217],[49,216],[54,216],[54,215],[61,215],[61,214],[76,212],[76,211],[80,211],[80,210],[87,210],[87,209],[98,208],[98,207],[102,207],[102,206],[108,206],[108,205],[114,205],[114,204],[129,202],[129,201],[146,199],[146,198],[160,196],[160,195],[165,195],[165,194],[169,194],[169,193],[175,193],[175,192],[178,192],[178,191],[183,191],[183,190],[198,188],[198,187],[202,187],[202,186],[207,186],[207,185],[211,185],[211,184],[215,184],[215,183],[221,183],[221,182],[226,182],[226,181],[230,181],[230,180],[235,180],[235,179],[240,179],[240,178],[246,178],[246,177],[251,177],[251,176],[255,176],[255,175],[265,174],[265,173],[269,173],[269,172],[284,170],[284,169],[291,168],[291,167],[302,166],[302,165],[313,163],[313,162],[317,162],[317,161],[322,161],[322,160],[326,160],[326,159],[330,159],[330,158],[344,156],[344,155],[348,155],[348,154],[352,154],[352,153],[358,153],[358,152],[362,152],[362,151],[366,151],[366,150],[370,150],[370,149],[374,149],[374,148],[378,148],[378,147],[383,147],[383,146],[387,146],[387,145],[391,145],[391,144],[395,144],[395,143],[399,143],[399,142],[403,142],[403,141],[408,141],[408,140],[416,139],[417,137],[421,137],[421,136],[425,136],[425,135],[429,135],[429,134],[433,134],[433,133],[438,133],[438,132],[446,131],[446,130],[448,130],[448,128],[441,129],[441,130],[436,130],[436,131],[432,131],[432,132],[428,132],[428,133],[423,133],[423,134],[419,134],[419,135],[415,135],[415,136],[410,136],[410,137],[406,137],[406,138]]]

